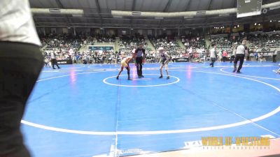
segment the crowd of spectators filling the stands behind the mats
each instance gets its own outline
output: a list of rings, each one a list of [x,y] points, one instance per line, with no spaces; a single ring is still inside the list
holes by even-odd
[[[280,47],[279,34],[246,34],[244,36],[226,36],[209,38],[210,43],[216,43],[218,61],[223,58],[223,53],[232,54],[232,51],[237,47],[241,40],[246,37],[248,40],[248,48],[250,52],[257,52],[257,49]],[[164,47],[165,51],[172,57],[172,61],[176,59],[187,59],[188,61],[202,61],[209,58],[209,49],[206,46],[206,41],[202,36],[181,37],[185,49],[183,49],[176,38],[172,36],[148,36],[153,46]],[[55,52],[57,60],[71,59],[73,63],[119,63],[121,59],[131,54],[133,49],[136,49],[139,44],[144,45],[146,49],[146,60],[149,63],[158,61],[158,55],[155,51],[148,49],[148,44],[144,36],[134,34],[134,36],[120,37],[120,50],[117,52],[111,51],[81,51],[82,45],[91,45],[92,43],[111,42],[114,43],[114,36],[85,36],[85,34],[78,34],[73,37],[69,34],[55,33],[48,36],[41,36],[41,43],[43,47],[43,54],[45,59],[50,59],[51,52]],[[181,42],[180,42],[181,43]]]

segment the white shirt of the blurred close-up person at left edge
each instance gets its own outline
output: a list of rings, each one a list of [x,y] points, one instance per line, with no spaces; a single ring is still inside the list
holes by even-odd
[[[0,0],[0,40],[41,45],[28,0]]]

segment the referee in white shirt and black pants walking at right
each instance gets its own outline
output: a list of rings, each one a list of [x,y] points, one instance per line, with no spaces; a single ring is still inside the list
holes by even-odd
[[[242,68],[243,62],[244,62],[244,58],[245,55],[248,55],[248,48],[246,47],[246,40],[242,41],[242,44],[237,46],[237,50],[236,50],[236,54],[235,54],[235,62],[234,62],[234,66],[235,69],[233,70],[233,73],[235,73],[237,71],[237,73],[240,73],[240,70]],[[239,66],[237,69],[237,62],[239,62]]]

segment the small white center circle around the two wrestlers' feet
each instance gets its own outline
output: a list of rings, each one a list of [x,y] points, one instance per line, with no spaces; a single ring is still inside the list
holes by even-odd
[[[144,74],[144,75],[158,75],[158,74]],[[124,76],[124,75],[123,75]],[[117,77],[117,76],[111,76],[111,77],[107,77],[103,80],[103,82],[105,84],[109,84],[109,85],[112,85],[112,86],[120,86],[120,87],[158,87],[158,86],[167,86],[167,85],[170,85],[170,84],[176,84],[178,82],[180,82],[180,79],[178,77],[175,77],[175,76],[172,76],[172,75],[169,75],[170,77],[174,77],[176,78],[176,81],[175,82],[171,82],[171,83],[168,83],[168,84],[155,84],[155,85],[124,85],[124,84],[111,84],[109,82],[107,82],[106,80],[110,79],[110,78],[113,78],[113,77]],[[115,78],[116,79],[116,78]]]

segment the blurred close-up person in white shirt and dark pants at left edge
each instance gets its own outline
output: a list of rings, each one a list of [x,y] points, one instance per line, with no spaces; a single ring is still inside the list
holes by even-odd
[[[29,157],[20,121],[43,68],[28,0],[0,1],[0,156]]]

